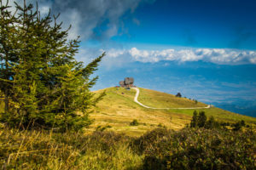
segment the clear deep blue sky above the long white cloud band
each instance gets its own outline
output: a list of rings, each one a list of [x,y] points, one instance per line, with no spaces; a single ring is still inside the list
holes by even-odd
[[[129,33],[118,42],[150,43],[195,48],[255,49],[255,1],[159,0],[142,4]]]

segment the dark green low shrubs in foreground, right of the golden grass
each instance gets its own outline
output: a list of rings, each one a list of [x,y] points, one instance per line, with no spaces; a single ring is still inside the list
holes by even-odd
[[[149,133],[148,133],[149,134]],[[160,138],[143,138],[144,169],[253,169],[256,135],[185,128]]]

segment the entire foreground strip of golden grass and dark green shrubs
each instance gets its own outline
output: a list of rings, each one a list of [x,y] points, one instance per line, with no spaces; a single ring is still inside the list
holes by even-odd
[[[141,137],[95,131],[55,133],[2,127],[3,169],[253,169],[256,135],[230,131],[157,128]]]

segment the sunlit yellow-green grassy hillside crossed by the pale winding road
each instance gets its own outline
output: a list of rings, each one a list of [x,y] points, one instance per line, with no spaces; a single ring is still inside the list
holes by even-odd
[[[132,136],[139,136],[158,126],[178,130],[190,122],[195,110],[152,110],[144,108],[133,101],[136,91],[125,88],[106,88],[98,90],[99,94],[106,91],[106,96],[97,104],[96,111],[91,114],[95,122],[91,130],[96,127],[108,126],[108,130],[126,133]],[[140,88],[138,100],[143,105],[156,108],[186,108],[186,107],[205,107],[206,104],[185,98],[177,98],[172,94],[160,93],[154,90]],[[199,109],[205,111],[207,117],[214,116],[220,122],[237,122],[244,120],[249,124],[256,123],[256,118],[242,116],[230,111],[224,111],[217,107],[210,109]],[[130,123],[137,119],[138,126],[131,126]]]

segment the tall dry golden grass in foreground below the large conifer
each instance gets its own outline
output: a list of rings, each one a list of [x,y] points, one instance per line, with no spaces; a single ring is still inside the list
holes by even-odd
[[[118,133],[55,133],[1,126],[1,169],[137,169],[143,156]]]

